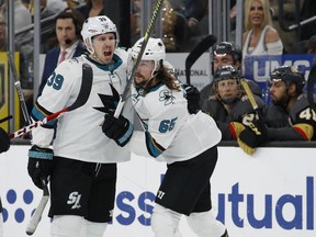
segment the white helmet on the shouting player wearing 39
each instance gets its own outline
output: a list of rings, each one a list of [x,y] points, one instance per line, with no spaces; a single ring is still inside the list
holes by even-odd
[[[94,49],[92,47],[92,37],[100,34],[105,33],[114,33],[116,40],[116,46],[119,44],[119,33],[116,30],[116,25],[106,16],[106,15],[99,15],[94,18],[88,18],[83,25],[81,35],[87,46],[87,49],[93,54]]]

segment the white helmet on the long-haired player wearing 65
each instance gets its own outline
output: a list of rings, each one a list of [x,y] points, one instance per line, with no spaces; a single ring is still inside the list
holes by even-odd
[[[144,37],[139,38],[135,45],[131,48],[129,57],[133,59],[136,59],[140,48],[142,44],[144,42]],[[161,64],[163,64],[166,58],[166,47],[163,45],[163,42],[160,38],[148,38],[148,43],[146,45],[146,48],[144,50],[144,54],[142,56],[142,60],[154,60],[155,61],[155,69],[153,74],[160,69]]]

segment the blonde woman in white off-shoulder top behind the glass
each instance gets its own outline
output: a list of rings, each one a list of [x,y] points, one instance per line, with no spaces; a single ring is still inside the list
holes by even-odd
[[[255,55],[282,55],[283,44],[280,40],[279,33],[272,27],[269,9],[270,5],[267,0],[246,1],[246,32],[242,34],[244,58]]]

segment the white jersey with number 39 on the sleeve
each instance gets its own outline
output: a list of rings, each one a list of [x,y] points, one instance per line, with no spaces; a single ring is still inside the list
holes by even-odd
[[[64,113],[58,119],[56,138],[53,142],[55,156],[101,163],[129,159],[131,153],[127,148],[119,147],[114,140],[103,134],[101,124],[104,121],[104,113],[94,109],[103,106],[98,93],[112,95],[109,83],[112,83],[121,93],[125,88],[127,53],[116,49],[113,59],[112,65],[101,65],[87,55],[81,55],[63,61],[48,78],[32,111],[32,116],[37,120],[72,104],[78,97],[81,80],[84,80],[82,64],[89,64],[93,70],[91,93],[86,104]],[[131,108],[126,108],[124,112],[126,112],[124,116],[133,120]],[[32,143],[40,147],[48,147],[53,134],[54,129],[35,128]]]

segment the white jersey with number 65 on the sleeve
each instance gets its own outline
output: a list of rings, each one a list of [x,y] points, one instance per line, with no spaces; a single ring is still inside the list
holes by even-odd
[[[143,144],[149,155],[161,155],[163,160],[172,163],[194,158],[221,142],[221,131],[211,116],[203,112],[188,112],[182,89],[174,91],[159,83],[144,97],[142,90],[133,88],[132,99],[146,131],[145,135],[134,132],[129,146],[136,154],[142,150],[139,140],[145,138]]]

